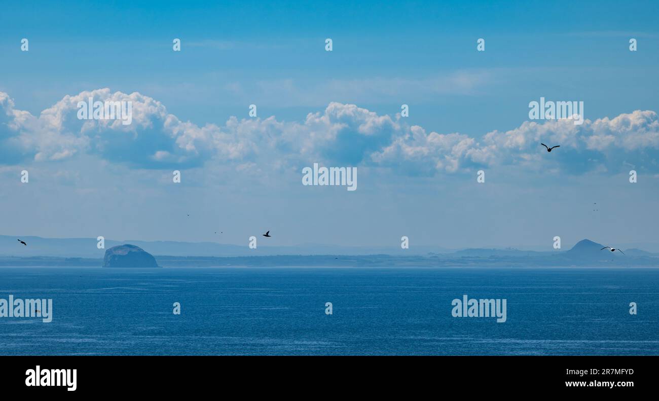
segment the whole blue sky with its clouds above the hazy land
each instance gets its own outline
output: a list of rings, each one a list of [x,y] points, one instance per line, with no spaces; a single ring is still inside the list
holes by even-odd
[[[658,11],[656,1],[5,4],[0,234],[659,242]],[[90,96],[132,102],[132,123],[78,119]],[[583,102],[584,123],[530,120],[540,98]],[[357,190],[302,185],[314,163],[356,167]]]

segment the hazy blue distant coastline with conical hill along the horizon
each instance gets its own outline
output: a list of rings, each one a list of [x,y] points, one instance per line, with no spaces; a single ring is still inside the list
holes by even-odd
[[[604,245],[583,239],[567,251],[520,251],[519,249],[463,249],[452,253],[428,252],[424,255],[410,253],[372,253],[370,255],[345,255],[341,253],[280,255],[150,255],[150,249],[141,249],[134,245],[121,245],[113,249],[135,249],[148,255],[152,266],[162,267],[659,267],[659,254],[641,249],[625,249],[625,253],[612,253],[602,250]],[[246,248],[246,247],[245,247]],[[15,245],[14,245],[15,249]],[[22,250],[21,247],[18,248]],[[36,247],[38,251],[47,251],[48,247]],[[180,251],[179,251],[180,252]],[[299,251],[303,252],[303,251]],[[155,262],[153,259],[155,258]],[[146,260],[146,259],[145,259]],[[142,264],[136,259],[130,266]],[[107,261],[106,261],[107,262]],[[63,257],[0,255],[0,266],[103,266],[100,257]],[[119,265],[117,265],[119,267]],[[133,266],[136,267],[136,266]],[[144,266],[148,267],[148,266]]]

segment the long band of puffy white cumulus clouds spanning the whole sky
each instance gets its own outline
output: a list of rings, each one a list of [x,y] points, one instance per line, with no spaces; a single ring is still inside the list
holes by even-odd
[[[132,102],[132,123],[78,119],[78,102],[89,98]],[[428,132],[405,121],[400,115],[378,115],[332,102],[302,121],[231,117],[221,126],[200,126],[167,113],[153,98],[108,88],[65,96],[34,116],[15,109],[13,100],[0,92],[0,164],[93,154],[138,168],[194,167],[212,160],[236,168],[264,161],[275,168],[311,162],[362,165],[409,175],[504,165],[573,173],[619,170],[629,164],[659,170],[659,119],[654,111],[585,120],[583,125],[570,120],[526,121],[480,138]],[[547,157],[540,142],[560,144],[560,151]]]

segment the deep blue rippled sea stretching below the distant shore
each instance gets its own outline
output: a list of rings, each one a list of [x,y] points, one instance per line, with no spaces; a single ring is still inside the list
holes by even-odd
[[[0,355],[659,355],[654,268],[0,268],[10,294],[53,321],[1,317]]]

